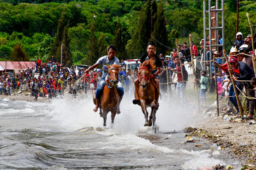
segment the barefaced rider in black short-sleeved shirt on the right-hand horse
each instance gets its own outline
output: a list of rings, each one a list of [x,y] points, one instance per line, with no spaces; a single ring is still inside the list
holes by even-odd
[[[145,60],[150,60],[150,59],[154,60],[154,65],[156,66],[156,69],[151,71],[151,73],[152,73],[152,78],[155,81],[155,84],[156,84],[156,87],[157,87],[157,90],[156,90],[156,108],[158,108],[159,107],[158,98],[159,98],[159,95],[160,95],[158,74],[161,73],[162,62],[159,59],[159,57],[157,57],[155,52],[156,52],[156,46],[155,46],[153,41],[150,41],[148,43],[148,46],[147,46],[147,53],[146,53],[146,55],[145,54],[141,55],[140,62],[142,64]],[[139,92],[138,92],[139,84],[140,84],[140,80],[139,80],[139,78],[137,78],[134,81],[134,85],[135,85],[134,96],[135,96],[135,99],[132,101],[132,103],[140,105],[140,97],[139,97]]]

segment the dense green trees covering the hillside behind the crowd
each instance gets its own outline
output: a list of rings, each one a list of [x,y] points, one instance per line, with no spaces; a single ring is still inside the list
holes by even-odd
[[[256,2],[240,1],[239,7],[239,31],[246,36],[250,34],[246,12],[255,25]],[[157,53],[167,55],[171,49],[166,46],[175,48],[175,38],[182,43],[192,34],[199,45],[203,37],[202,8],[203,1],[189,0],[0,0],[0,60],[15,60],[13,53],[19,46],[24,51],[24,60],[40,57],[45,62],[54,55],[60,62],[61,42],[62,60],[67,65],[93,64],[106,55],[111,43],[118,47],[120,59],[138,58],[150,41],[151,11]],[[225,1],[227,50],[235,36],[236,3],[228,0]]]

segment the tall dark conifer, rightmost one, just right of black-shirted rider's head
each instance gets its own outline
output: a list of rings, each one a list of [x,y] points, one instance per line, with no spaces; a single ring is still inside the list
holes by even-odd
[[[166,47],[163,45],[167,45],[167,32],[166,32],[166,20],[164,17],[164,8],[163,2],[160,1],[157,6],[157,15],[156,15],[156,22],[154,23],[154,38],[157,41],[161,42],[161,44],[157,44],[157,53],[165,53]]]

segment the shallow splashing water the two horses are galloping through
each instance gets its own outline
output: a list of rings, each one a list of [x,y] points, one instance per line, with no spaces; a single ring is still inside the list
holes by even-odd
[[[91,97],[51,103],[0,99],[0,169],[240,169],[239,161],[208,141],[186,143],[181,130],[202,121],[191,106],[180,109],[164,97],[156,134],[143,127],[141,109],[131,99],[122,101],[112,128],[110,114],[105,128],[92,110]]]

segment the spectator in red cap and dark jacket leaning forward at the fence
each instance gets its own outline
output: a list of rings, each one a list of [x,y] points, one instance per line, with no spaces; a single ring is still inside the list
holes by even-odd
[[[240,93],[240,90],[243,89],[243,86],[246,89],[246,96],[255,97],[255,93],[253,91],[253,86],[250,85],[250,82],[241,82],[236,80],[252,80],[255,77],[254,71],[252,67],[248,66],[244,62],[239,62],[236,57],[230,57],[229,61],[231,68],[228,71],[232,71],[233,76],[231,79],[235,80],[235,85],[239,89],[237,93]],[[229,90],[229,99],[230,102],[235,106],[237,113],[239,113],[239,108],[236,100],[236,95],[234,92],[234,87],[231,85]],[[239,101],[240,102],[240,101]],[[249,118],[253,118],[253,111],[255,108],[255,99],[249,99]]]

